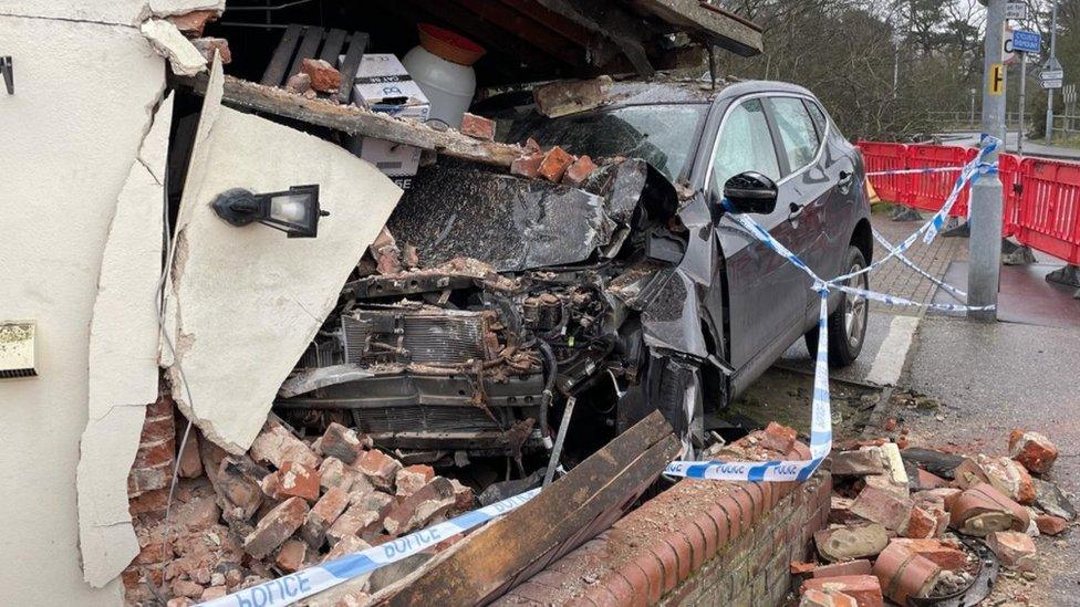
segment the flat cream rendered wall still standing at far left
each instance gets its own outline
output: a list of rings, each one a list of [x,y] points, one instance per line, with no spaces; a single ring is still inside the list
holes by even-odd
[[[131,19],[133,4],[0,0],[15,80],[13,96],[0,86],[0,318],[38,322],[40,374],[0,380],[4,605],[122,601],[118,579],[83,582],[75,465],[104,242],[164,86],[136,28],[93,22]],[[85,22],[12,17],[58,11]]]

